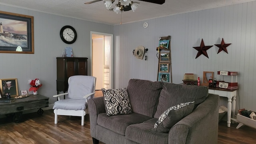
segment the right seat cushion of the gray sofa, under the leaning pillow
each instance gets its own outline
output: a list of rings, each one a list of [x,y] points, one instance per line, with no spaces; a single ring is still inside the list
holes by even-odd
[[[168,133],[151,131],[158,119],[152,118],[126,128],[125,137],[139,144],[168,144]]]

